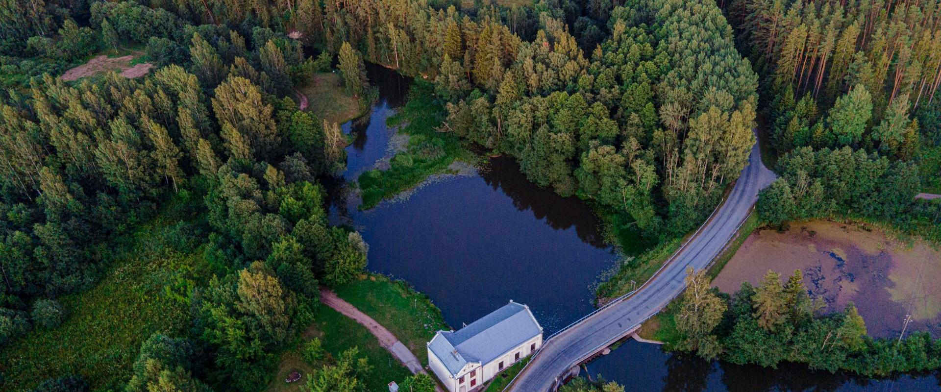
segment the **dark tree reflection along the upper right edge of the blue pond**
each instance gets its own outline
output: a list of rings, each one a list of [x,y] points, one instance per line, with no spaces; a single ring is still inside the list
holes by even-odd
[[[530,210],[537,219],[545,218],[546,223],[557,230],[574,226],[582,242],[598,248],[608,247],[599,231],[598,217],[582,200],[558,196],[550,189],[539,188],[526,179],[512,158],[492,158],[480,174],[487,185],[510,196],[517,210]]]

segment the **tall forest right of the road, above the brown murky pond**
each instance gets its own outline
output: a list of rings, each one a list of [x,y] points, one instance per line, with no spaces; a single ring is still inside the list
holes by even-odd
[[[912,199],[941,185],[941,3],[723,7],[762,76],[767,135],[782,156],[762,217],[848,215],[938,238],[937,203]]]

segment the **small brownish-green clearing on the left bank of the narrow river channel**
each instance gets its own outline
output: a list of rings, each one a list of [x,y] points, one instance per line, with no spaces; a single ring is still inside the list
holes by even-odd
[[[298,89],[307,96],[307,110],[318,118],[342,124],[362,114],[359,99],[343,89],[339,73],[316,73],[307,86]]]

